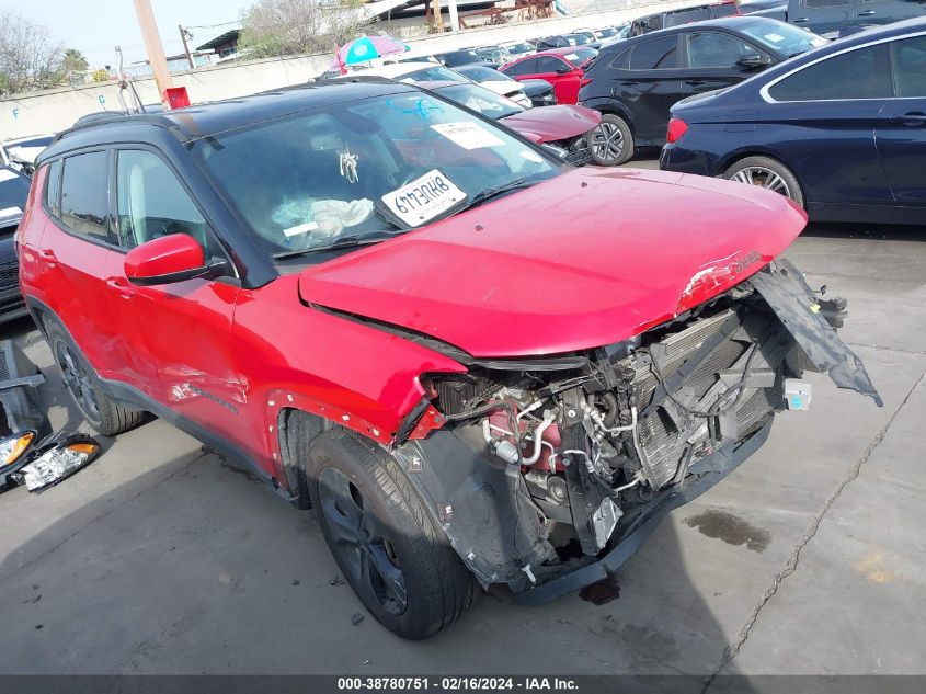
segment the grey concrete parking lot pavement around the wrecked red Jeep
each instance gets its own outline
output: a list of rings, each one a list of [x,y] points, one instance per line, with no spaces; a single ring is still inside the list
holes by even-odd
[[[530,608],[493,590],[423,642],[354,625],[312,513],[150,421],[60,486],[3,494],[0,669],[682,674],[691,691],[718,672],[926,673],[926,231],[812,226],[787,257],[848,297],[843,337],[884,407],[811,375],[810,411],[780,416],[610,587]],[[3,333],[43,368],[54,423],[77,426],[31,323]]]

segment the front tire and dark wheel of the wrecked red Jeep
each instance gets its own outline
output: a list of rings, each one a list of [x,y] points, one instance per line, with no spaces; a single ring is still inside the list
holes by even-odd
[[[382,626],[419,640],[469,610],[472,576],[386,451],[325,431],[309,447],[306,478],[331,554]]]

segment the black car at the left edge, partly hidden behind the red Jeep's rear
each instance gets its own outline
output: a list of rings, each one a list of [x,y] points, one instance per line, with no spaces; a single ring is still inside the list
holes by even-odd
[[[13,236],[28,198],[28,177],[0,166],[0,322],[26,315],[20,292],[20,270]]]

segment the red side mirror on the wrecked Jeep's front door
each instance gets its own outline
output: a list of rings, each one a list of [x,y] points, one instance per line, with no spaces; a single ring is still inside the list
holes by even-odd
[[[171,234],[132,249],[125,257],[125,276],[132,284],[172,284],[215,275],[228,263],[206,264],[203,247],[188,234]]]

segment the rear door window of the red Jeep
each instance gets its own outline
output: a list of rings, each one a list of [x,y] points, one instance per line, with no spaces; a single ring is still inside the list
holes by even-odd
[[[92,238],[108,240],[110,153],[93,151],[65,159],[61,221]]]

